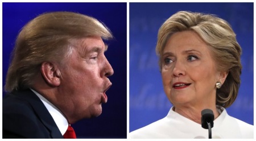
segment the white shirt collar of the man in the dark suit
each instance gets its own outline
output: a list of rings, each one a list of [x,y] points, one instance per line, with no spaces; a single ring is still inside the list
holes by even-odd
[[[46,109],[52,115],[52,118],[55,121],[57,127],[59,128],[61,134],[64,135],[68,128],[68,121],[65,118],[65,116],[63,115],[63,113],[56,106],[54,106],[51,102],[49,102],[46,98],[44,98],[41,94],[39,94],[38,92],[36,92],[33,89],[31,89],[31,90],[44,103],[44,106],[46,106]]]

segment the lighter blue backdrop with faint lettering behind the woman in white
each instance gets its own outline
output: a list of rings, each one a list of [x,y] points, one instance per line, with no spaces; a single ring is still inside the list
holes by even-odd
[[[155,53],[158,29],[177,11],[227,20],[242,47],[238,97],[228,114],[253,125],[253,3],[130,3],[130,131],[165,117],[172,106],[163,91]]]

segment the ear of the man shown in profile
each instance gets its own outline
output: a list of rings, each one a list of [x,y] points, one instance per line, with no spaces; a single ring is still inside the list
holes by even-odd
[[[41,73],[47,84],[51,86],[60,85],[60,70],[57,65],[51,62],[44,62],[41,64]]]

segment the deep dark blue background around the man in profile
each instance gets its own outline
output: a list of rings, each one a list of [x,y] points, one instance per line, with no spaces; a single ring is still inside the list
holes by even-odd
[[[73,11],[104,22],[115,39],[105,53],[114,69],[110,77],[113,85],[108,90],[108,103],[102,105],[102,114],[93,119],[75,123],[77,138],[126,138],[126,3],[3,3],[3,86],[16,36],[29,20],[50,11]],[[3,92],[3,96],[5,92]]]

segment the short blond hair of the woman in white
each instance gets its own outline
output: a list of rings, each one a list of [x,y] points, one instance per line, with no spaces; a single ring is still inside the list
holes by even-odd
[[[172,34],[195,31],[210,47],[217,69],[228,72],[226,81],[216,92],[216,105],[229,107],[235,101],[241,83],[241,52],[236,34],[225,20],[211,14],[179,11],[159,28],[156,54],[162,70],[163,49]]]

